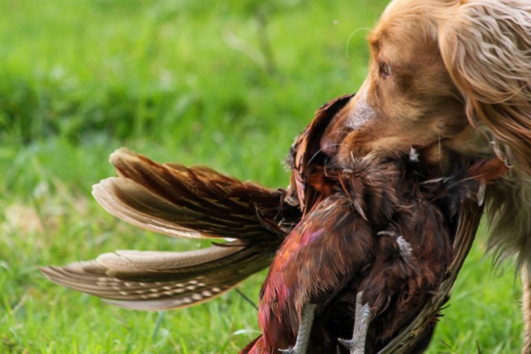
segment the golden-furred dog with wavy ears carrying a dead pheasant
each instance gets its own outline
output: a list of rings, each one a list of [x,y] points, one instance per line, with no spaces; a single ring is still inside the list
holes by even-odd
[[[394,0],[369,44],[369,74],[322,146],[339,162],[412,145],[443,167],[455,152],[503,160],[489,244],[517,255],[531,353],[531,1]]]

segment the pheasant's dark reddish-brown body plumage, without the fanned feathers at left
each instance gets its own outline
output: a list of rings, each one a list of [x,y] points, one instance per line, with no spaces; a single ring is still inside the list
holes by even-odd
[[[323,133],[349,99],[326,105],[292,149],[291,190],[304,216],[281,245],[263,284],[263,335],[241,353],[276,353],[295,345],[309,304],[315,319],[310,338],[303,341],[310,342],[308,353],[345,351],[337,338],[351,336],[357,295],[369,305],[371,322],[366,350],[361,346],[351,353],[384,348],[452,277],[447,270],[463,201],[475,201],[478,192],[482,200],[480,181],[503,173],[497,169],[503,164],[472,165],[458,156],[447,171],[425,168],[415,149],[410,156],[369,155],[337,165],[335,156],[326,154]],[[429,343],[443,301],[435,303],[427,326],[405,352],[422,351]],[[301,350],[299,337],[295,353]]]

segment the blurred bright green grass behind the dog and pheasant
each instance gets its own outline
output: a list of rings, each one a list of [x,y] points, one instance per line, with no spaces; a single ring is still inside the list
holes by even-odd
[[[270,187],[315,109],[366,75],[384,0],[0,0],[0,353],[234,353],[257,336],[235,292],[135,312],[39,265],[189,250],[109,216],[90,188],[127,146]],[[430,353],[516,353],[521,285],[480,232]],[[241,289],[257,299],[263,273]]]

